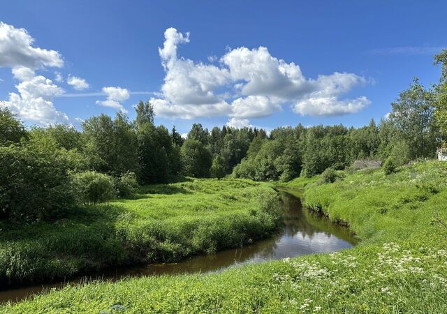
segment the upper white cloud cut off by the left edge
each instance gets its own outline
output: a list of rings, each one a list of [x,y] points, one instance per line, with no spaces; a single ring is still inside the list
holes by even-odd
[[[26,29],[0,22],[0,66],[31,69],[64,65],[61,54],[54,50],[33,47],[34,38]]]

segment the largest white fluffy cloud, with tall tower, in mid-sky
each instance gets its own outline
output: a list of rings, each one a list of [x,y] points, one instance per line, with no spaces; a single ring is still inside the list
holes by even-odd
[[[177,56],[178,45],[189,43],[189,33],[166,29],[159,48],[166,71],[161,97],[152,98],[162,117],[194,119],[228,116],[235,120],[268,117],[291,104],[302,115],[342,115],[358,112],[369,100],[365,96],[342,98],[366,81],[353,73],[306,78],[298,64],[272,57],[266,47],[228,51],[219,66]],[[216,58],[214,58],[216,59]],[[248,123],[248,122],[247,122]]]

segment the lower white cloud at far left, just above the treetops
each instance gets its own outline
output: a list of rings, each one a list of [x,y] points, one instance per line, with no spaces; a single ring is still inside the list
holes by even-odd
[[[27,121],[40,124],[67,122],[68,117],[54,108],[52,98],[64,93],[51,80],[41,75],[24,80],[15,86],[17,93],[10,93],[9,99],[0,103],[11,112]]]

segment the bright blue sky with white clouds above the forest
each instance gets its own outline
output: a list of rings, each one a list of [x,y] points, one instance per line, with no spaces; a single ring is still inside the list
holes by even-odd
[[[181,133],[362,126],[413,77],[437,82],[446,12],[445,1],[4,1],[0,100],[28,125],[132,119],[152,99],[156,123]]]

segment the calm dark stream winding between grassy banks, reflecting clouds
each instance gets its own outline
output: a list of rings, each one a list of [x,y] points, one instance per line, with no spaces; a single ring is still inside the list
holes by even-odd
[[[351,248],[357,240],[346,227],[331,223],[325,216],[303,209],[299,198],[280,192],[284,221],[274,236],[251,246],[220,251],[215,254],[191,257],[175,264],[149,264],[138,267],[108,269],[101,274],[76,278],[64,283],[51,283],[0,291],[0,302],[17,301],[46,291],[93,279],[116,281],[124,277],[154,276],[162,274],[207,273],[221,271],[242,264],[279,260],[312,253],[334,252]]]

